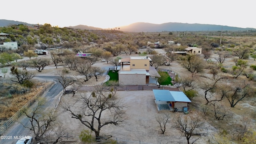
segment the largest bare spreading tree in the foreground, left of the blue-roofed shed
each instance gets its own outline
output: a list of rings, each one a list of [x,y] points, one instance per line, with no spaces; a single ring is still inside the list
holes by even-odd
[[[72,118],[90,128],[95,133],[96,139],[100,138],[102,127],[109,124],[117,126],[127,118],[125,105],[117,98],[116,87],[111,86],[108,89],[97,86],[89,95],[81,94],[74,103],[64,102],[62,108],[70,112]]]

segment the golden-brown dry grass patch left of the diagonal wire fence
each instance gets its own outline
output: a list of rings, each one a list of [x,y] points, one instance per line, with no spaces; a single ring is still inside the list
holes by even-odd
[[[45,85],[45,83],[41,83]],[[42,85],[37,88],[32,88],[30,92],[22,95],[12,95],[12,98],[4,98],[4,105],[0,105],[0,118],[10,118],[12,117],[22,106],[24,106],[31,98],[33,98],[40,90],[42,90]]]

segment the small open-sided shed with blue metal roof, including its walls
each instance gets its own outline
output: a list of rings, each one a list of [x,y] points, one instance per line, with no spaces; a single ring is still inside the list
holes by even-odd
[[[184,94],[184,92],[170,91],[170,90],[153,90],[155,102],[158,110],[188,110],[191,100]],[[186,111],[185,110],[185,111]]]

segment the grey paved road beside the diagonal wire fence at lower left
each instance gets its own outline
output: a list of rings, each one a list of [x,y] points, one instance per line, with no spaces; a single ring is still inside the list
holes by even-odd
[[[42,80],[54,80],[57,77],[56,76],[36,76],[35,78],[37,79],[42,79]],[[46,92],[44,92],[44,94],[42,95],[42,97],[46,98],[46,112],[49,112],[50,110],[52,110],[52,108],[54,108],[57,100],[58,100],[58,96],[60,94],[60,92],[62,92],[63,88],[61,86],[60,83],[54,82],[54,85],[49,88]],[[34,108],[36,106],[36,103],[34,103],[30,108]],[[12,139],[9,140],[3,140],[0,139],[0,144],[15,144],[18,139],[14,139],[14,136],[29,136],[29,135],[33,135],[27,128],[24,128],[22,126],[22,124],[20,124],[20,122],[22,124],[24,124],[25,126],[30,126],[30,122],[29,119],[22,115],[19,118],[19,122],[14,123],[10,128],[8,128],[8,130],[3,134],[3,136],[12,136]]]

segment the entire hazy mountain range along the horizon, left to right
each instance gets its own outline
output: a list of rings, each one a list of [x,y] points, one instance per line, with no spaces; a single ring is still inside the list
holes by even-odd
[[[26,22],[19,22],[14,20],[0,20],[0,26],[8,26],[10,24],[24,24],[27,26],[32,26],[35,24],[28,24]],[[69,28],[81,29],[81,30],[108,30],[102,28],[96,28],[93,26],[77,25],[77,26],[67,26]],[[162,31],[246,31],[246,30],[256,30],[255,28],[238,28],[232,26],[222,26],[214,24],[188,24],[188,23],[178,23],[178,22],[168,22],[163,24],[152,24],[145,22],[136,22],[128,26],[116,27],[118,30],[124,32],[162,32]]]

